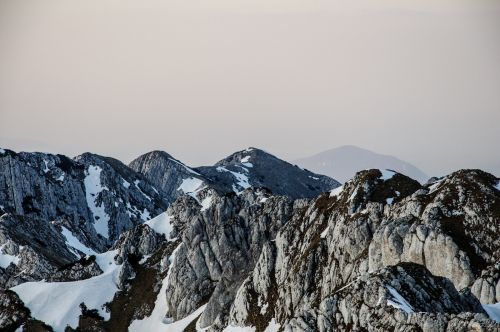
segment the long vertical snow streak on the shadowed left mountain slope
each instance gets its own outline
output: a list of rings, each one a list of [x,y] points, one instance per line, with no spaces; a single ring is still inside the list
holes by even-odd
[[[90,165],[85,172],[86,177],[83,183],[85,184],[87,205],[94,215],[94,228],[97,233],[108,238],[109,215],[104,210],[104,204],[102,202],[99,206],[97,206],[95,202],[99,193],[103,190],[108,190],[108,188],[101,185],[101,172],[102,168],[99,166]]]

